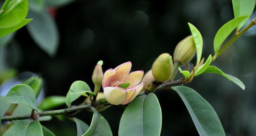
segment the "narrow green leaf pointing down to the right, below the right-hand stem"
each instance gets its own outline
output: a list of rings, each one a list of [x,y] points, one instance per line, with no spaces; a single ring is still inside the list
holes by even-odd
[[[220,70],[219,68],[217,68],[216,66],[209,66],[204,73],[215,73],[215,74],[219,74],[221,76],[224,76],[225,78],[227,78],[228,80],[232,81],[233,83],[235,83],[236,85],[238,85],[240,88],[242,88],[242,90],[245,89],[244,83],[242,81],[240,81],[238,78],[231,76],[229,74],[225,74],[224,72],[222,72],[222,70]]]

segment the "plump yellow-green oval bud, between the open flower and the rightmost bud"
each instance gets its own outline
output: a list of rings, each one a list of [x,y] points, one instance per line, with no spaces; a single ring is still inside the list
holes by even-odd
[[[172,73],[172,57],[168,53],[161,54],[152,65],[152,74],[157,81],[168,80]]]

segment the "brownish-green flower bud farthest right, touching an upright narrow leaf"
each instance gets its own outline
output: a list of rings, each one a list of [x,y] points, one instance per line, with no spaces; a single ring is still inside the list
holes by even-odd
[[[190,62],[196,53],[196,45],[193,36],[188,36],[178,43],[174,50],[174,63],[180,66]]]

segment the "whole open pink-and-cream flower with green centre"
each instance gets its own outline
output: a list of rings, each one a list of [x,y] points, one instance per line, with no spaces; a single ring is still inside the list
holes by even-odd
[[[115,69],[110,68],[104,73],[102,80],[102,88],[106,100],[113,105],[125,105],[134,100],[143,83],[140,84],[144,72],[130,72],[132,68],[131,62],[123,63]]]

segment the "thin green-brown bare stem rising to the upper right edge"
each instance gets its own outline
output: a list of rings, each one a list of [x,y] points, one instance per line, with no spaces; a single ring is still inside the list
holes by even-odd
[[[214,56],[212,56],[212,62],[214,62],[214,60],[220,56],[222,54],[222,52],[224,52],[224,50],[226,50],[231,44],[233,44],[242,34],[244,34],[244,32],[246,32],[249,28],[251,28],[252,26],[254,26],[256,24],[256,17],[252,20],[252,22],[250,22],[243,30],[241,30],[240,32],[236,31],[236,33],[234,34],[234,36],[218,51],[216,52],[216,54]],[[211,63],[212,63],[211,62]]]

